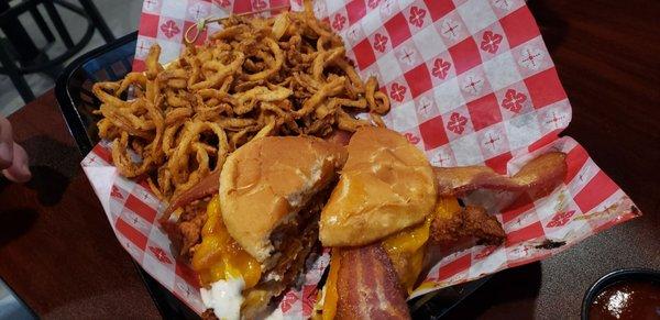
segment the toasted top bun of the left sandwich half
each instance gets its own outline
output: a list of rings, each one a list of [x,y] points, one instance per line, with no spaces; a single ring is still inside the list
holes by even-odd
[[[310,136],[267,136],[243,145],[220,175],[228,232],[263,264],[274,251],[271,233],[334,179],[345,157],[342,146]]]

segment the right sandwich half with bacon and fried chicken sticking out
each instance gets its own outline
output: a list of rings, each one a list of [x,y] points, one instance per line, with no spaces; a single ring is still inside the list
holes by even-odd
[[[485,208],[457,197],[494,189],[537,198],[565,173],[559,152],[537,156],[512,177],[485,166],[432,167],[400,134],[359,129],[321,212],[319,238],[332,256],[312,318],[409,319],[408,295],[435,286],[420,275],[448,254],[506,239]]]

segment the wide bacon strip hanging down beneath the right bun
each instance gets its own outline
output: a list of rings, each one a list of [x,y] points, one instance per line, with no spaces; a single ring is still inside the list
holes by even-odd
[[[407,295],[380,243],[342,249],[340,255],[334,319],[410,319]]]

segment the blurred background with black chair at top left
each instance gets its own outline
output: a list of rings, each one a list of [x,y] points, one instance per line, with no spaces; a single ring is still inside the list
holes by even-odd
[[[0,0],[0,113],[53,88],[62,68],[106,44],[108,33],[118,38],[138,30],[142,2]]]

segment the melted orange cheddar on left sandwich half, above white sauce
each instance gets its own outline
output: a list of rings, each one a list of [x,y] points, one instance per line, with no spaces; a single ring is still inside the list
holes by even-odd
[[[193,269],[199,275],[202,286],[222,279],[242,277],[248,289],[254,287],[261,278],[261,264],[227,231],[222,222],[218,195],[207,207],[207,221],[201,229],[201,243],[193,254]]]

